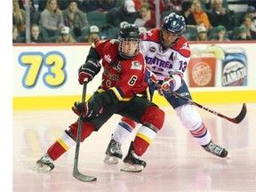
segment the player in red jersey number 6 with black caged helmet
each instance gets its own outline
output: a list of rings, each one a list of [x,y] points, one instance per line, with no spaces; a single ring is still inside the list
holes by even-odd
[[[125,24],[120,29],[118,40],[96,40],[85,64],[79,68],[78,81],[80,84],[84,84],[85,78],[92,81],[102,65],[100,87],[87,102],[76,102],[72,108],[76,115],[83,113],[84,116],[81,142],[92,132],[97,132],[114,114],[141,124],[124,158],[121,170],[126,172],[141,172],[145,168],[146,162],[139,157],[146,152],[164,124],[164,111],[147,98],[146,64],[139,45],[140,31],[133,24]],[[53,162],[76,145],[77,127],[78,121],[70,124],[69,129],[48,148],[36,162],[39,171],[51,171]]]

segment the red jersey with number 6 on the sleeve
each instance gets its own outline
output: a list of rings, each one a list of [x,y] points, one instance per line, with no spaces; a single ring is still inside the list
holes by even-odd
[[[130,60],[118,57],[118,42],[116,39],[95,42],[96,52],[99,53],[103,67],[103,90],[111,89],[118,100],[131,98],[137,93],[144,92],[148,84],[145,82],[146,64],[141,53]]]

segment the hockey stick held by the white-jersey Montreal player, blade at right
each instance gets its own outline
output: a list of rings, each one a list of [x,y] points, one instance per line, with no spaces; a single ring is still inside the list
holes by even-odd
[[[161,85],[160,85],[160,84],[156,84],[156,87],[159,87],[159,86],[161,86]],[[246,105],[245,105],[245,103],[244,103],[244,104],[243,104],[243,107],[242,107],[242,109],[241,109],[241,111],[240,111],[240,113],[238,114],[238,116],[236,116],[235,118],[230,118],[230,117],[224,116],[224,115],[222,115],[222,114],[220,114],[220,113],[218,113],[218,112],[216,112],[216,111],[214,111],[214,110],[212,110],[212,109],[210,109],[210,108],[206,108],[206,107],[204,107],[203,105],[197,103],[197,102],[194,101],[194,100],[189,100],[188,98],[186,98],[186,97],[180,95],[180,94],[177,93],[177,92],[172,92],[172,91],[169,91],[169,92],[170,92],[173,96],[175,96],[175,97],[177,97],[177,98],[180,98],[181,100],[186,100],[186,101],[188,101],[188,103],[190,103],[191,105],[194,105],[194,106],[196,106],[196,107],[198,107],[198,108],[203,108],[204,110],[206,110],[206,111],[212,113],[213,115],[215,115],[215,116],[220,116],[221,118],[225,118],[225,119],[227,119],[229,122],[232,122],[232,123],[234,123],[234,124],[239,124],[240,122],[242,122],[243,119],[244,119],[244,116],[246,116],[246,113],[247,113],[247,107],[246,107]]]

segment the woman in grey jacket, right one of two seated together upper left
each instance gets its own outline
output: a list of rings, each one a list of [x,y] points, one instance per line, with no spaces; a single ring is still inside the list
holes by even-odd
[[[84,12],[78,8],[77,0],[69,1],[68,8],[62,12],[64,25],[72,28],[75,36],[81,36],[82,31],[89,28],[89,22]]]

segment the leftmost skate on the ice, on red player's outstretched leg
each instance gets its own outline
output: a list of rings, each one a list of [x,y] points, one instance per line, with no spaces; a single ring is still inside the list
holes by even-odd
[[[45,153],[38,161],[36,161],[36,167],[34,170],[38,172],[50,172],[54,168],[52,158]]]

